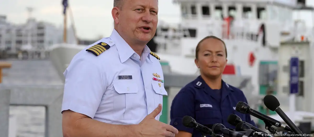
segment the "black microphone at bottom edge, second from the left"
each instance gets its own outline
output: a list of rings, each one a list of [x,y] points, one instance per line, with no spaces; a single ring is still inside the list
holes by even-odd
[[[226,129],[226,127],[220,123],[214,124],[212,130],[215,134],[218,134],[218,135],[228,135],[230,137],[247,137],[246,135],[242,133],[239,133],[230,129]]]

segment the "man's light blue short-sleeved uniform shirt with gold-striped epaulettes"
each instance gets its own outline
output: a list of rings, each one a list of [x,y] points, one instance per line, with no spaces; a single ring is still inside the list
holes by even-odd
[[[95,54],[94,45],[99,51]],[[109,124],[138,124],[167,95],[158,59],[147,46],[140,58],[114,29],[110,37],[73,57],[64,72],[62,111],[70,109]]]

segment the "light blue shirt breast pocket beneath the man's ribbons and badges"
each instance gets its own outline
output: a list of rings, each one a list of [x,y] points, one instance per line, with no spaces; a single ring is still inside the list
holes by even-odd
[[[153,110],[158,106],[158,104],[163,105],[163,97],[164,95],[168,95],[167,91],[165,90],[164,84],[163,83],[158,83],[157,81],[152,80],[152,86],[154,90],[154,108]],[[165,104],[167,105],[167,104]],[[158,114],[156,119],[159,119],[161,116],[162,112]]]

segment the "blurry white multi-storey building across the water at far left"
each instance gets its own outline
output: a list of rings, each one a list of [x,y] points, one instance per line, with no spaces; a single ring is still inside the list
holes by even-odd
[[[37,22],[29,18],[25,24],[13,24],[6,20],[6,16],[0,16],[0,48],[19,50],[41,50],[63,42],[63,26]],[[67,42],[76,43],[73,29],[67,31]]]

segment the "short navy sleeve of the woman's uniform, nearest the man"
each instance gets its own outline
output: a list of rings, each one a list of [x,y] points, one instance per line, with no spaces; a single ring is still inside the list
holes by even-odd
[[[194,95],[189,88],[183,88],[176,94],[171,104],[170,125],[181,131],[193,133],[193,128],[187,128],[182,124],[184,116],[195,119]]]

